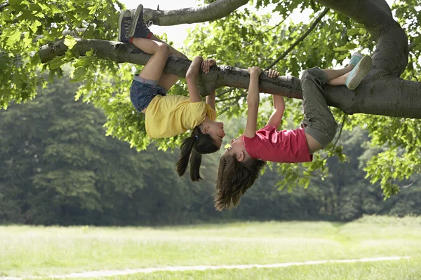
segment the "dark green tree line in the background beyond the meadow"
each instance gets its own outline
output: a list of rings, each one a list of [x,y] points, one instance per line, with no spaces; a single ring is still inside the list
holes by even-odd
[[[178,151],[149,145],[137,152],[105,136],[104,113],[74,102],[77,83],[55,80],[27,104],[0,111],[0,223],[42,225],[163,225],[244,220],[347,221],[363,214],[421,214],[421,184],[413,176],[399,195],[383,201],[382,190],[364,177],[368,133],[356,128],[339,139],[348,159],[328,158],[327,176],[309,188],[279,190],[281,165],[265,174],[234,211],[213,208],[218,155],[203,157],[204,180],[178,177]],[[227,120],[227,139],[241,121]],[[297,165],[300,168],[300,165]],[[322,180],[322,179],[323,180]]]

